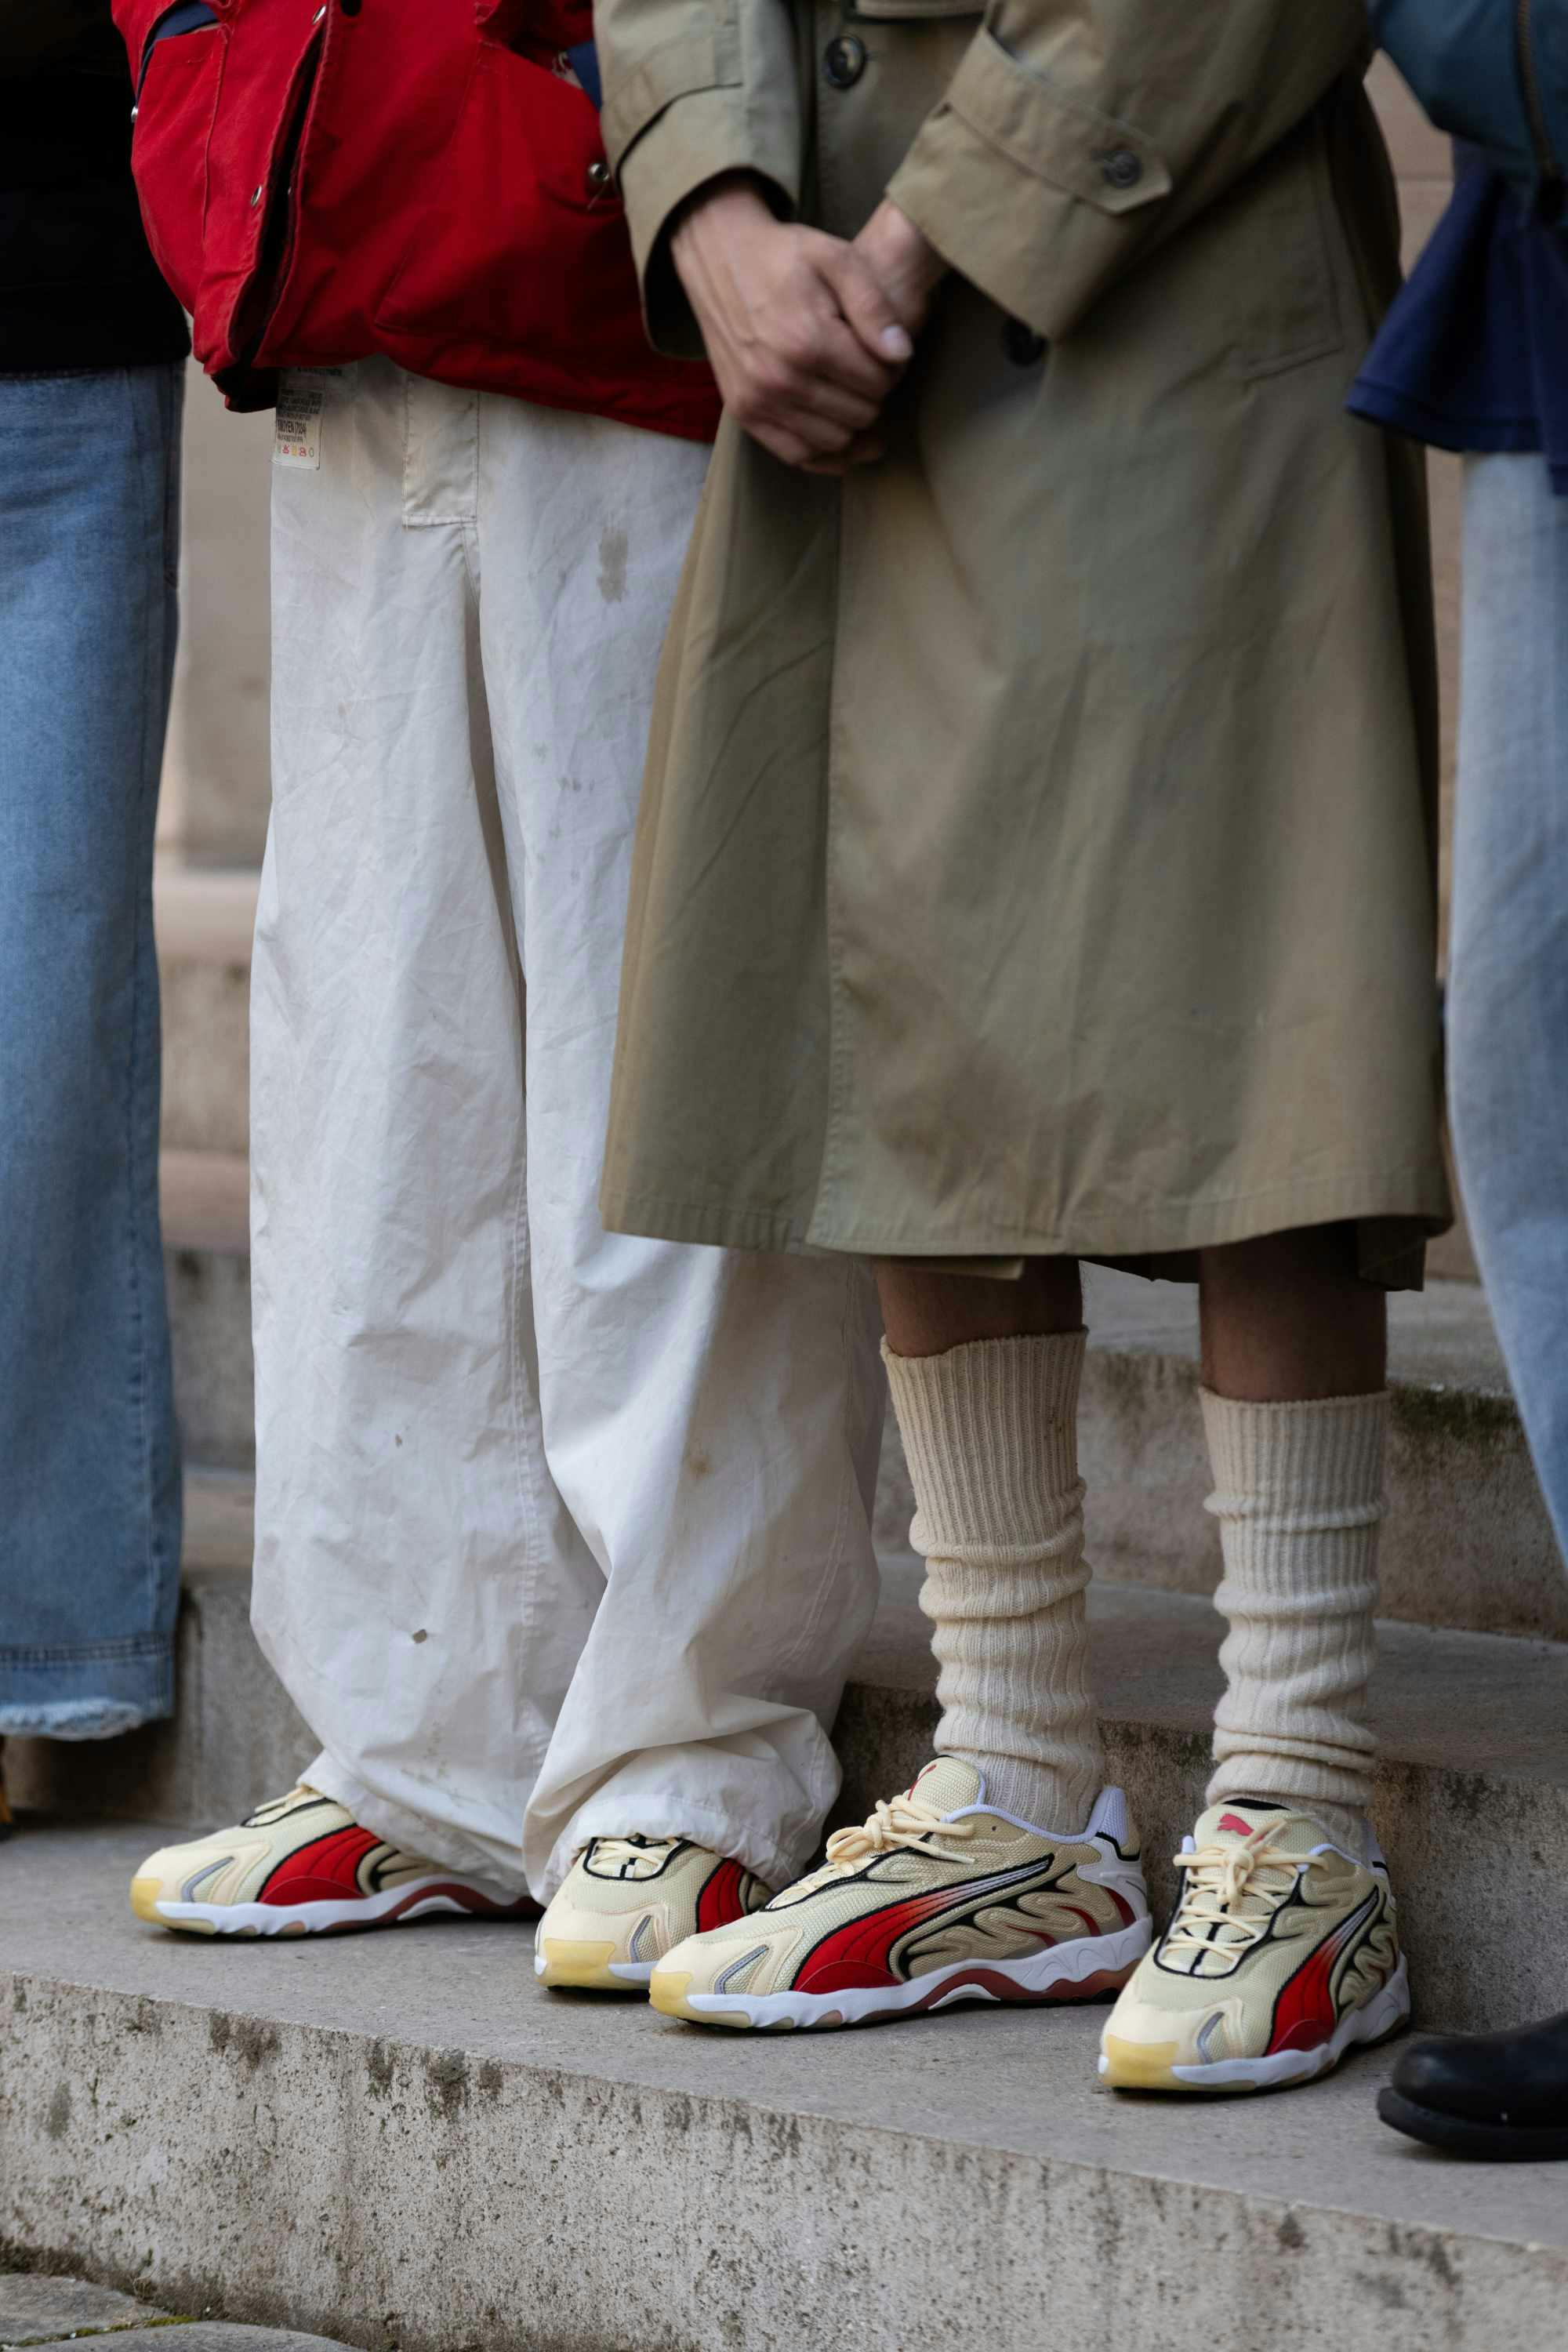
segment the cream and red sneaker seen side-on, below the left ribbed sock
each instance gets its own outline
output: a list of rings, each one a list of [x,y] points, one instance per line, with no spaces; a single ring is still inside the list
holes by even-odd
[[[1147,1947],[1119,1788],[1063,1837],[987,1806],[976,1766],[938,1757],[766,1910],[677,1945],[649,1997],[696,2025],[872,2025],[954,2002],[1086,2002]]]

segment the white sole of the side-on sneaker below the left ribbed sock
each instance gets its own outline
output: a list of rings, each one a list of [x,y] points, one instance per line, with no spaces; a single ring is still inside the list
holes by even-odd
[[[961,1959],[903,1985],[842,1992],[689,1992],[691,1976],[654,1969],[649,1999],[668,2018],[691,2025],[741,2025],[769,2032],[790,2025],[877,2025],[882,2018],[931,2016],[961,2002],[1093,2002],[1119,1992],[1150,1950],[1152,1922],[1133,1919],[1114,1936],[1053,1943],[1032,1959]],[[736,1966],[741,1955],[736,1955]]]

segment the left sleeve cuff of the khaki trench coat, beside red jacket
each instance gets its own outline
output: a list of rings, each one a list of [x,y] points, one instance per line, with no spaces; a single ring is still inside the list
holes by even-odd
[[[755,174],[780,219],[797,214],[792,82],[769,92],[755,78],[729,78],[715,42],[696,35],[654,52],[609,89],[602,129],[625,198],[649,341],[677,360],[701,358],[670,230],[686,200],[724,172]]]

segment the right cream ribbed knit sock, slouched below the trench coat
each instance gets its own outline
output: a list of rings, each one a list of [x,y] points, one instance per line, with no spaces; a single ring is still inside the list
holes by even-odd
[[[1387,1395],[1234,1404],[1204,1390],[1229,1618],[1208,1802],[1272,1797],[1366,1846]]]

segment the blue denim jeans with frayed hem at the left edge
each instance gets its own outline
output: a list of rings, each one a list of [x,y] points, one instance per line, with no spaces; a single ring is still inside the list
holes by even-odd
[[[153,821],[179,367],[0,376],[0,1733],[167,1715]]]

